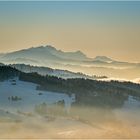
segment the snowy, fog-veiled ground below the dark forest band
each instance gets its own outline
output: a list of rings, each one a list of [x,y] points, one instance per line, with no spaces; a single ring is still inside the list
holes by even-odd
[[[140,101],[122,107],[76,104],[74,95],[0,82],[0,138],[140,138]]]

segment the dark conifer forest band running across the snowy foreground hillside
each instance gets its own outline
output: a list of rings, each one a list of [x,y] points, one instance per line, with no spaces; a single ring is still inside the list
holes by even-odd
[[[19,76],[19,80],[36,83],[37,90],[48,90],[66,94],[75,94],[76,103],[121,107],[128,95],[140,98],[140,85],[130,82],[96,81],[90,79],[62,79],[54,76],[41,76],[37,73],[23,73],[14,68],[0,67],[0,79]]]

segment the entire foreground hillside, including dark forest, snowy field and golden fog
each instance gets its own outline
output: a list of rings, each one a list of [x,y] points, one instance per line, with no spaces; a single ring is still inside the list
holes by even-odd
[[[2,139],[140,137],[140,85],[130,82],[61,79],[1,66],[0,106]]]

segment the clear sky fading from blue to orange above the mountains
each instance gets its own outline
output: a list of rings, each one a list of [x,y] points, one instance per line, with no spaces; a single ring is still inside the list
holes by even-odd
[[[0,1],[0,53],[40,45],[140,62],[140,1]]]

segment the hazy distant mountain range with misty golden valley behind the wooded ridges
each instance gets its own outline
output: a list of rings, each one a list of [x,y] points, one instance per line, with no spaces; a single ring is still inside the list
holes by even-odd
[[[140,63],[120,62],[107,56],[89,58],[81,51],[64,52],[49,45],[1,54],[0,62],[50,67],[88,75],[126,79],[140,77]]]

